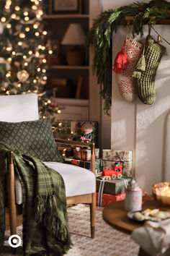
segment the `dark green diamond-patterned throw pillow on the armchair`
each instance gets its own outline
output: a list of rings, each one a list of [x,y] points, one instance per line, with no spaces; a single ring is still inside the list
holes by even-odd
[[[63,162],[53,137],[50,117],[18,123],[0,121],[0,140],[41,161]]]

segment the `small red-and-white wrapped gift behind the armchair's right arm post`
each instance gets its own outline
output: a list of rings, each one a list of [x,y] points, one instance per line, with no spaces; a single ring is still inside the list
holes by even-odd
[[[99,148],[94,149],[95,158],[99,158]],[[90,149],[81,149],[79,151],[73,149],[73,157],[75,159],[80,159],[81,161],[90,161],[91,160],[91,150]]]

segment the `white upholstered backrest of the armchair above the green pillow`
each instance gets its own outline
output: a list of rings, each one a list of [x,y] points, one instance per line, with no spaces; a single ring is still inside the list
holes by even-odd
[[[0,96],[0,121],[33,121],[39,119],[35,93]]]

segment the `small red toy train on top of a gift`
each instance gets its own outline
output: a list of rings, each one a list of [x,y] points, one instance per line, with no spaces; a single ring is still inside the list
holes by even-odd
[[[112,170],[107,170],[107,167],[102,171],[102,176],[99,179],[121,179],[122,178],[122,166],[116,162]]]

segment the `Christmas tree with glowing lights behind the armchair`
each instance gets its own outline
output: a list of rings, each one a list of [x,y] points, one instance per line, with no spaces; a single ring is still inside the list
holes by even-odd
[[[37,93],[45,117],[56,109],[45,93],[46,56],[53,51],[42,14],[42,0],[0,1],[0,94]]]

